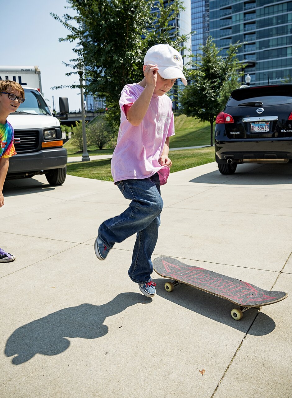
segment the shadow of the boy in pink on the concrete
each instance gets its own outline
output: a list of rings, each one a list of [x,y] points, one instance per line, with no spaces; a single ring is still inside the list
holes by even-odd
[[[103,305],[81,304],[64,308],[16,329],[8,338],[5,355],[14,365],[20,365],[36,354],[57,355],[65,351],[67,338],[96,339],[108,332],[105,318],[124,311],[137,303],[149,303],[152,299],[139,293],[121,293]]]

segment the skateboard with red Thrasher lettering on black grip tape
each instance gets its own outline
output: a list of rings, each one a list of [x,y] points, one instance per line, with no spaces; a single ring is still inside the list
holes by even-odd
[[[184,264],[171,257],[156,258],[153,261],[153,269],[158,275],[173,280],[164,285],[168,292],[177,285],[186,284],[239,305],[239,309],[234,308],[231,311],[231,316],[235,320],[240,320],[242,313],[249,308],[259,309],[263,305],[273,304],[288,296],[285,292],[264,290],[239,279]]]

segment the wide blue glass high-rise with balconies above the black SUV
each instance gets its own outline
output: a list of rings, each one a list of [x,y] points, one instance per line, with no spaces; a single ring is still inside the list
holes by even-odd
[[[243,43],[238,58],[248,63],[251,85],[291,79],[292,1],[209,0],[209,12],[209,34],[222,55],[230,43]]]

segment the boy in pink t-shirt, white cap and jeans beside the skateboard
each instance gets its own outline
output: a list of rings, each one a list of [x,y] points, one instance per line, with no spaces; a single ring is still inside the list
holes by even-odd
[[[95,254],[104,260],[116,242],[137,234],[128,274],[147,297],[156,293],[151,279],[166,183],[172,162],[169,137],[174,135],[172,101],[168,92],[177,78],[184,85],[182,56],[168,44],[151,47],[144,59],[144,78],[121,93],[121,124],[112,155],[112,176],[131,203],[122,214],[104,221],[95,240]]]

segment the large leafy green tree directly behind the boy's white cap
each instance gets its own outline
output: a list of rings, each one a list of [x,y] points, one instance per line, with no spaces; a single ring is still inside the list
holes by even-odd
[[[186,40],[172,32],[169,21],[182,10],[182,2],[164,4],[141,0],[68,0],[75,16],[51,14],[70,33],[60,41],[77,41],[76,58],[66,64],[76,73],[85,65],[85,94],[105,98],[109,123],[118,131],[120,92],[143,78],[143,59],[149,47],[171,43],[177,49]],[[151,12],[152,10],[152,12]],[[70,86],[72,88],[78,85]],[[59,87],[58,87],[59,88]]]

